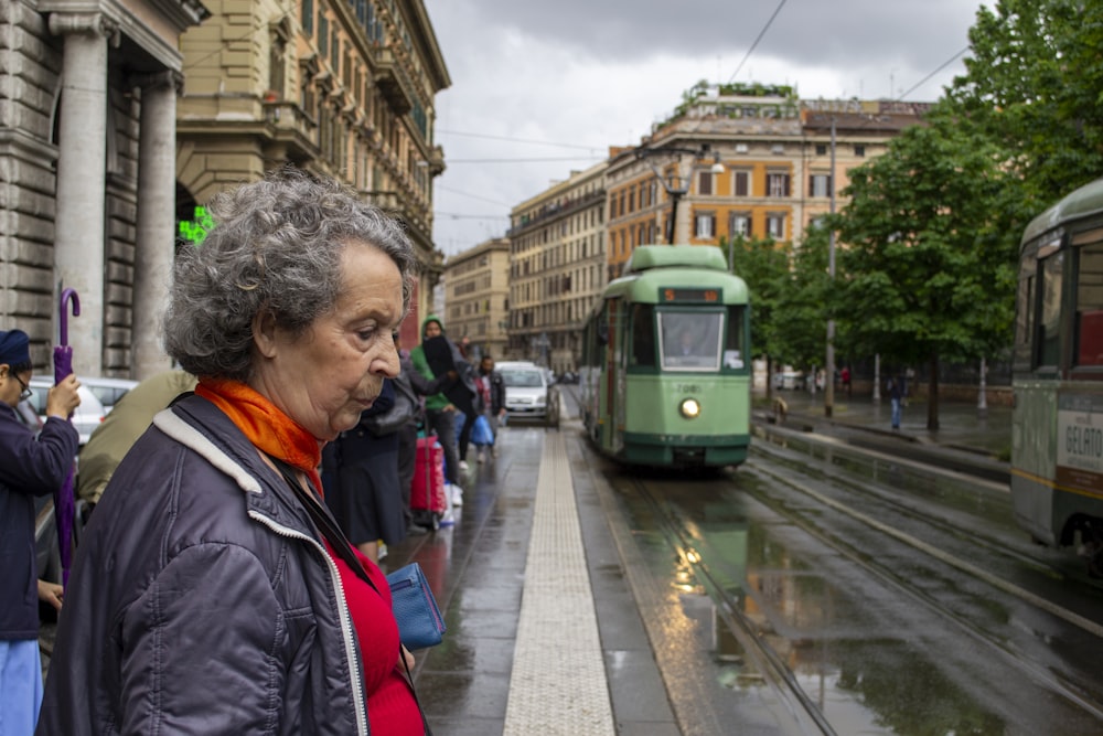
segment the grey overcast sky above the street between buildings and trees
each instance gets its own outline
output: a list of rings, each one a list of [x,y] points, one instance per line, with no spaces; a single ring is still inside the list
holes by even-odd
[[[788,84],[805,99],[934,102],[964,71],[954,56],[977,9],[992,4],[424,1],[452,78],[437,95],[447,170],[433,238],[446,255],[504,235],[511,207],[609,146],[639,143],[699,79]]]

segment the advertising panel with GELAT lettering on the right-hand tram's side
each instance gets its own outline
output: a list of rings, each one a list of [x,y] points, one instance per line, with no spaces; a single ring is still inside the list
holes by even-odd
[[[1103,394],[1058,396],[1056,481],[1103,493]]]

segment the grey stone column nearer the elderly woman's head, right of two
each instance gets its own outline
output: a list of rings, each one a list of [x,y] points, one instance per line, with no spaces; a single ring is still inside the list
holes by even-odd
[[[135,252],[130,344],[132,377],[141,381],[172,367],[158,326],[171,279],[176,218],[178,72],[138,77],[138,247]]]

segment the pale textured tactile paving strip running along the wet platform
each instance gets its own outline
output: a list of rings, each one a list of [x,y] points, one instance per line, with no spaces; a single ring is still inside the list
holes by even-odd
[[[548,433],[504,734],[615,733],[567,450]]]

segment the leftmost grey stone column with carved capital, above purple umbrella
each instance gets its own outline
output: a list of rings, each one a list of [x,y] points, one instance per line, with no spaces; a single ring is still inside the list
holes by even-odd
[[[100,13],[51,13],[63,35],[58,119],[54,276],[57,294],[76,289],[81,316],[69,320],[73,370],[104,366],[105,173],[107,170],[107,44],[115,24]],[[56,314],[55,314],[56,320]]]

